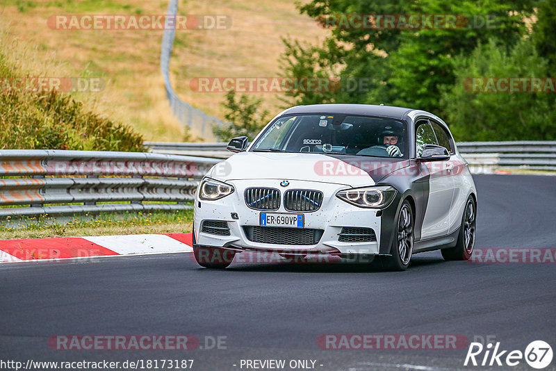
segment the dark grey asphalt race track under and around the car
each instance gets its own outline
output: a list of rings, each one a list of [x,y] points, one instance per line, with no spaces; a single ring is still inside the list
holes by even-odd
[[[476,248],[556,247],[556,177],[475,176]],[[245,370],[241,359],[316,360],[316,370],[533,370],[463,367],[467,347],[323,350],[322,334],[495,336],[501,349],[545,340],[556,351],[556,265],[443,261],[406,272],[352,264],[198,267],[190,254],[0,266],[0,360],[194,359],[193,370]],[[226,349],[68,351],[60,334],[226,336]],[[502,358],[503,359],[503,358]],[[234,366],[236,365],[236,366]],[[555,370],[556,361],[544,370]],[[291,370],[291,368],[285,368]]]

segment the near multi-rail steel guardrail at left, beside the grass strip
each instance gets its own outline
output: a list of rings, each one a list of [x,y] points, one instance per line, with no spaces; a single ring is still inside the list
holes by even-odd
[[[190,208],[186,202],[195,198],[199,179],[218,162],[133,152],[2,150],[0,206],[28,207],[0,208],[0,216]]]

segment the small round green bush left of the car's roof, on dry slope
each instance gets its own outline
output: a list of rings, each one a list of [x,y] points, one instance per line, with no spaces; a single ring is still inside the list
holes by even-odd
[[[213,133],[220,140],[227,141],[243,135],[253,140],[268,121],[268,110],[261,112],[261,99],[250,98],[247,94],[241,94],[237,99],[236,92],[230,90],[222,106],[227,110],[224,119],[229,125],[213,126]]]

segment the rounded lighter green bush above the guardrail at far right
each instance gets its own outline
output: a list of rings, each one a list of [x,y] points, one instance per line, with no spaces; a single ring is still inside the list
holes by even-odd
[[[471,56],[455,58],[456,83],[444,87],[441,106],[456,140],[555,140],[550,92],[473,92],[473,76],[546,76],[548,63],[524,38],[507,52],[491,40]]]

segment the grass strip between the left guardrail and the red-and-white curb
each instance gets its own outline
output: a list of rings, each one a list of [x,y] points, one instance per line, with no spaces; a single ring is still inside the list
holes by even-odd
[[[145,233],[186,233],[193,229],[193,210],[101,213],[74,217],[3,217],[0,240]]]

